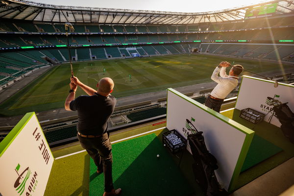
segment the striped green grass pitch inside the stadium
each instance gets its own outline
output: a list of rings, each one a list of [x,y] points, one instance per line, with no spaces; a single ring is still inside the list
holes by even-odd
[[[235,62],[256,72],[281,71],[275,62],[227,58],[203,54],[180,54],[148,58],[95,60],[73,63],[73,73],[83,83],[96,88],[102,77],[115,82],[116,98],[211,82],[214,68],[221,62]],[[290,68],[283,65],[283,68]],[[228,72],[228,71],[227,71]],[[244,75],[250,75],[245,71]],[[69,63],[52,67],[48,72],[25,86],[0,104],[1,116],[15,116],[61,108],[68,96],[71,69]],[[78,88],[76,96],[85,93]]]

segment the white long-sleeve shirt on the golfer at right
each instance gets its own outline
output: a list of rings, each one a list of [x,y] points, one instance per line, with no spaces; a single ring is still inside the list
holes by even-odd
[[[219,73],[221,77],[218,76]],[[225,73],[225,67],[217,67],[212,73],[211,79],[218,83],[210,94],[215,98],[226,98],[227,95],[238,85],[238,77],[227,75]]]

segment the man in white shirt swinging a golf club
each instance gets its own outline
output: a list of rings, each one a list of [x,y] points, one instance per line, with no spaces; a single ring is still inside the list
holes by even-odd
[[[206,98],[205,105],[217,112],[221,110],[223,99],[238,85],[238,75],[243,71],[242,65],[234,65],[227,75],[225,69],[229,66],[230,63],[221,62],[211,75],[211,79],[218,85]],[[218,76],[219,73],[221,77]]]

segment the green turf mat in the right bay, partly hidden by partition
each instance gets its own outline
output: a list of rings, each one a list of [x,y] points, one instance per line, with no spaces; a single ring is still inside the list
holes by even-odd
[[[241,172],[255,166],[256,164],[270,158],[283,149],[277,147],[267,140],[254,135],[248,153],[246,155]]]

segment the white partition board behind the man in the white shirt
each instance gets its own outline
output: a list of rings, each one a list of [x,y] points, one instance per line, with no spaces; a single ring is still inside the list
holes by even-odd
[[[251,108],[266,115],[264,121],[281,126],[273,114],[273,101],[288,102],[289,108],[294,111],[294,86],[279,83],[275,88],[274,82],[256,77],[243,76],[235,108],[243,110]],[[271,120],[270,120],[270,117]]]

